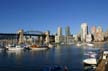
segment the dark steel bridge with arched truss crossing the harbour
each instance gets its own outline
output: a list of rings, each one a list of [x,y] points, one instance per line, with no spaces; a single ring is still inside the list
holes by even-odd
[[[44,32],[41,32],[41,31],[33,31],[33,30],[30,30],[30,31],[20,31],[19,33],[0,33],[0,40],[17,40],[17,41],[23,41],[23,36],[36,36],[40,39],[40,37],[42,38],[42,42],[45,41],[45,38],[48,37]],[[50,35],[49,34],[49,37],[54,38],[54,36]]]

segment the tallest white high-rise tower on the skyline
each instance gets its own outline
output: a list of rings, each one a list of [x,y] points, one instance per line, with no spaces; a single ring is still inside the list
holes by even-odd
[[[81,24],[81,41],[86,41],[86,35],[88,34],[87,23]]]

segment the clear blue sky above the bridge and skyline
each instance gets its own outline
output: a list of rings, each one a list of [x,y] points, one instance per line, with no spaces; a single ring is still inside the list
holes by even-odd
[[[77,34],[87,23],[108,29],[107,0],[0,0],[0,32],[19,29],[47,31],[55,34],[57,27],[70,26]]]

